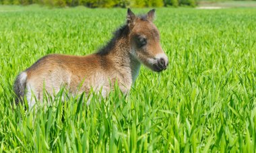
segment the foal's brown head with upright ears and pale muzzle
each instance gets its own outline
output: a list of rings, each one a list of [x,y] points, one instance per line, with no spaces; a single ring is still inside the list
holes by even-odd
[[[131,54],[139,62],[156,72],[165,70],[168,66],[168,58],[160,45],[160,34],[154,20],[155,9],[146,15],[136,17],[128,9],[127,25],[129,26],[129,40],[131,42]]]

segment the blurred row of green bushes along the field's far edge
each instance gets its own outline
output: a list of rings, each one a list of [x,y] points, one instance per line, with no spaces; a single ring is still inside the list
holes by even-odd
[[[179,5],[190,5],[194,7],[197,0],[0,0],[3,5],[30,5],[40,4],[56,7],[75,7],[84,5],[86,7],[178,7]]]

